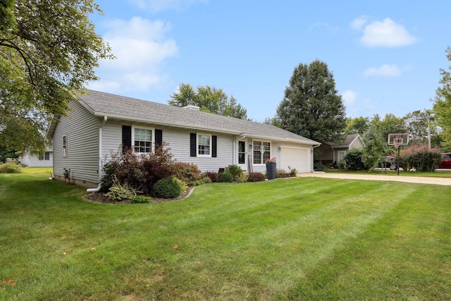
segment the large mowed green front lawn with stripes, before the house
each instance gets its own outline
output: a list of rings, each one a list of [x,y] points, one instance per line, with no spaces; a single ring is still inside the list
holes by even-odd
[[[448,186],[295,178],[111,205],[47,178],[0,175],[0,300],[451,299]]]

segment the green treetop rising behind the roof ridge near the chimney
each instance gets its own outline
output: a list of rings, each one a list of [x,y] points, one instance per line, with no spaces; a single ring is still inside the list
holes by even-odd
[[[190,84],[180,84],[178,92],[171,95],[168,100],[171,106],[187,106],[192,104],[199,106],[201,111],[215,113],[218,115],[247,119],[247,110],[237,103],[235,97],[223,92],[216,87],[199,86],[194,90]]]

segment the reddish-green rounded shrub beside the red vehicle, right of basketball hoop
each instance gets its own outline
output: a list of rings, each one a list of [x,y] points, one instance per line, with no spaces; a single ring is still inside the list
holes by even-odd
[[[434,171],[441,160],[442,150],[438,147],[429,149],[427,145],[414,145],[406,147],[400,152],[400,165],[407,171],[412,168],[422,172]]]

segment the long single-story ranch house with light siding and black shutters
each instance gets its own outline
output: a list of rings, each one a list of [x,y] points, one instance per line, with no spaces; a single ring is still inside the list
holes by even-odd
[[[70,103],[69,117],[54,118],[47,137],[53,140],[54,176],[95,187],[102,166],[121,147],[153,152],[154,142],[166,142],[177,161],[201,171],[230,164],[244,171],[266,171],[265,159],[276,157],[277,168],[313,171],[313,147],[320,143],[273,125],[180,108],[129,97],[88,91]]]

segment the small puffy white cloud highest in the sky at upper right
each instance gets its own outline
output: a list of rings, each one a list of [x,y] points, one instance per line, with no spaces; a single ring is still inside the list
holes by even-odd
[[[416,37],[390,18],[368,24],[365,16],[352,21],[351,27],[362,30],[360,42],[366,47],[402,47],[416,42]]]

